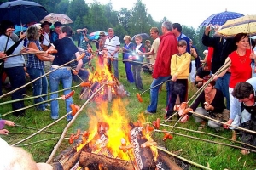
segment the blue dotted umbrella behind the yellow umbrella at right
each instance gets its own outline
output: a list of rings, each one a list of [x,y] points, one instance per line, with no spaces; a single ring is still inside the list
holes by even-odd
[[[227,20],[236,19],[241,16],[243,16],[243,14],[229,12],[226,10],[222,13],[212,14],[207,18],[207,20],[204,20],[200,26],[208,26],[209,24],[222,26]]]

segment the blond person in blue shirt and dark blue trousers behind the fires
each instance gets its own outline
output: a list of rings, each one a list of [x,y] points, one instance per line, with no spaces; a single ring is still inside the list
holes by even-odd
[[[123,49],[123,59],[128,59],[129,55],[131,55],[132,50],[135,48],[135,44],[131,42],[131,37],[130,36],[125,36],[124,37],[125,41],[125,46],[122,48]],[[134,82],[133,74],[131,72],[131,62],[124,61],[125,64],[125,73],[127,77],[127,81],[130,83]]]

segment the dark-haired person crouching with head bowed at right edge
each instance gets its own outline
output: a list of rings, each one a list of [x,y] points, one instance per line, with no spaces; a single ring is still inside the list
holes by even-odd
[[[247,122],[241,123],[240,127],[256,131],[256,77],[250,78],[247,82],[238,82],[232,92],[232,95],[241,101],[242,107],[251,114]],[[241,131],[241,141],[246,144],[256,146],[256,135]],[[248,147],[245,145],[244,147]],[[247,155],[248,150],[241,150],[242,155]]]

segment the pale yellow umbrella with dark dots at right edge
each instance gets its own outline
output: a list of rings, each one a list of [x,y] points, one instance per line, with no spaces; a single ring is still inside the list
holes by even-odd
[[[247,33],[248,36],[256,35],[256,15],[246,15],[238,19],[227,20],[214,36],[235,37],[238,33]]]

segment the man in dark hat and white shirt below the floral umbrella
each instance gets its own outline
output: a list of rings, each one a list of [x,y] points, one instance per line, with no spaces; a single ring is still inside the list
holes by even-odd
[[[50,30],[50,26],[52,23],[48,21],[44,21],[43,24],[41,24],[41,27],[43,29],[43,34],[40,37],[41,46],[44,51],[46,51],[48,48],[50,48],[51,44],[53,43],[57,37],[55,31]]]

